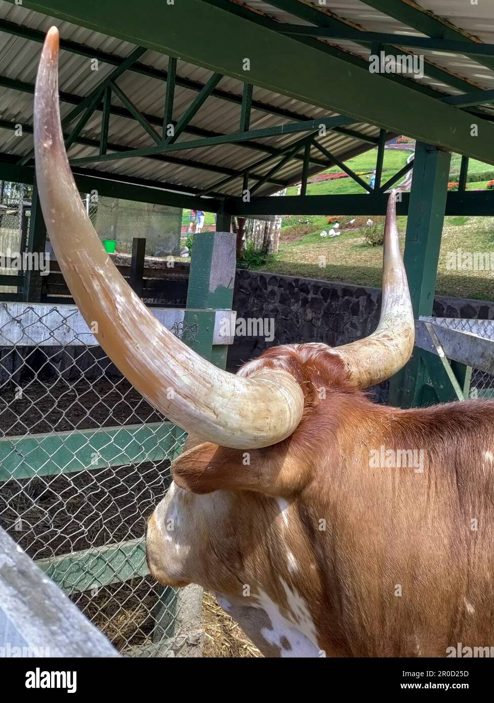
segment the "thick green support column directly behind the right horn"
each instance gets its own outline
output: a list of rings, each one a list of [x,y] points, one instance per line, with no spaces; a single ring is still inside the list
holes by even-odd
[[[417,142],[405,238],[405,269],[414,317],[431,315],[443,233],[450,153]],[[420,349],[389,383],[389,403],[403,408],[422,404],[429,373]]]

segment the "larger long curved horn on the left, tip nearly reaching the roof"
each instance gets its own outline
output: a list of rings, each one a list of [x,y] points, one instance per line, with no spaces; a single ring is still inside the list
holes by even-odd
[[[296,429],[303,393],[284,371],[250,378],[202,359],[161,325],[110,261],[70,172],[58,109],[58,30],[44,42],[34,94],[36,179],[46,229],[68,288],[110,359],[184,430],[236,449],[275,444]]]

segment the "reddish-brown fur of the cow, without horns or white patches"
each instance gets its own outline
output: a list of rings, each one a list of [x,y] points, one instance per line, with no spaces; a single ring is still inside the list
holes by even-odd
[[[252,584],[288,612],[281,576],[307,603],[328,656],[494,646],[494,402],[377,406],[322,344],[270,349],[241,373],[259,368],[298,380],[303,420],[289,439],[249,452],[248,464],[246,453],[210,443],[175,461],[177,485],[215,491],[195,506],[214,510],[194,513],[183,580],[239,603]],[[422,449],[423,471],[369,467],[381,446]],[[290,501],[286,526],[271,496]]]

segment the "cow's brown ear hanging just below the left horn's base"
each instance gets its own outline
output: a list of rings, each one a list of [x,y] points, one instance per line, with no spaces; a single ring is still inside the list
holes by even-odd
[[[265,449],[229,449],[203,442],[172,464],[175,483],[186,491],[259,491],[288,498],[308,481],[308,468],[280,445]]]

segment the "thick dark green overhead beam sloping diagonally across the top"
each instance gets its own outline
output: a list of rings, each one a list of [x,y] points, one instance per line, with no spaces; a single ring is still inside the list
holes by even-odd
[[[202,0],[176,3],[171,10],[166,4],[141,0],[139,22],[135,8],[118,0],[83,5],[79,0],[25,0],[24,6],[243,82],[248,77],[261,88],[348,115],[355,122],[376,124],[494,163],[493,124],[482,122],[478,136],[471,136],[471,115],[462,110]],[[212,42],[210,37],[215,36],[223,40]],[[248,72],[243,70],[245,56],[250,58]]]

